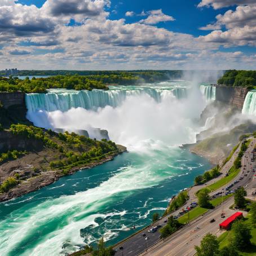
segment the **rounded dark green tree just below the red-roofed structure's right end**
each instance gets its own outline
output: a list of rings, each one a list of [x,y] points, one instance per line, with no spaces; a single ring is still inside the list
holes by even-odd
[[[232,224],[232,230],[234,233],[233,245],[237,249],[244,249],[251,244],[251,231],[248,225],[243,220],[238,220]]]

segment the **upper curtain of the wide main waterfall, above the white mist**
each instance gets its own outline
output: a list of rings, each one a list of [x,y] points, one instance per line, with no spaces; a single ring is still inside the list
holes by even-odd
[[[168,95],[173,95],[177,99],[187,97],[186,88],[171,89],[135,89],[135,90],[92,90],[75,91],[65,89],[49,90],[47,94],[27,94],[25,97],[29,112],[36,112],[39,109],[47,112],[62,111],[67,112],[72,108],[84,108],[96,110],[107,105],[118,107],[128,96],[141,96],[148,94],[157,103],[161,102]]]

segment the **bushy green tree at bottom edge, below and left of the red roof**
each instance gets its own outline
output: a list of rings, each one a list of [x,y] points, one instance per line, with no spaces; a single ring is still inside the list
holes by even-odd
[[[201,241],[200,246],[195,246],[197,256],[218,256],[219,242],[217,236],[208,233]]]

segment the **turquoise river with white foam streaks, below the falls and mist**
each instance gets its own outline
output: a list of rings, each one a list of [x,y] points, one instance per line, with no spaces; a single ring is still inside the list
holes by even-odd
[[[135,232],[134,224],[147,226],[210,167],[187,151],[168,152],[124,153],[0,204],[0,255],[64,255],[102,236],[115,244]]]

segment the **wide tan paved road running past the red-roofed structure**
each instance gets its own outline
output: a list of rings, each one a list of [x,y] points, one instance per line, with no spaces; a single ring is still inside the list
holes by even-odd
[[[240,175],[244,175],[248,173],[248,176],[245,176],[244,179],[241,180],[236,186],[232,189],[235,189],[237,186],[244,186],[246,191],[248,192],[249,197],[251,198],[251,192],[255,191],[256,188],[256,179],[254,179],[253,169],[256,168],[255,162],[251,162],[251,151],[253,150],[256,144],[256,140],[249,145],[248,150],[246,151],[244,157],[242,158],[242,171]],[[244,166],[245,169],[244,169]],[[242,173],[244,172],[244,174]],[[229,206],[233,204],[233,197],[229,198],[224,202],[224,213],[226,217],[229,217],[234,213],[233,210],[229,209]],[[218,224],[223,221],[220,218],[220,213],[222,212],[222,207],[218,206],[214,210],[209,211],[205,214],[204,217],[201,217],[189,226],[186,226],[182,229],[182,231],[176,232],[169,240],[165,241],[164,244],[157,244],[149,248],[147,252],[144,252],[142,255],[154,255],[154,256],[162,256],[162,255],[180,255],[180,256],[192,256],[195,254],[195,245],[199,245],[202,237],[206,235],[206,233],[213,233],[219,236],[222,232],[219,231]],[[245,215],[246,213],[244,213]],[[216,222],[210,223],[211,219],[215,219]]]

